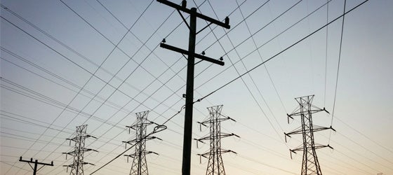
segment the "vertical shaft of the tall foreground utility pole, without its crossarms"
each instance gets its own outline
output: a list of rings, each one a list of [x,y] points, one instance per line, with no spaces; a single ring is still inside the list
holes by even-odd
[[[187,59],[187,86],[185,97],[185,127],[183,137],[182,175],[189,175],[191,169],[192,110],[194,100],[194,53],[196,38],[196,8],[191,8],[189,18],[189,43]]]

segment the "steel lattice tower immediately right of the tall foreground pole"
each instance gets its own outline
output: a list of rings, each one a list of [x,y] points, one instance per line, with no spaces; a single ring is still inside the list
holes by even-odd
[[[196,140],[196,146],[198,146],[198,142],[203,141],[210,141],[210,150],[207,153],[203,154],[198,154],[201,157],[207,158],[208,156],[208,167],[206,169],[206,175],[213,175],[213,174],[220,174],[220,175],[225,175],[225,169],[224,169],[224,162],[222,162],[222,153],[235,153],[234,151],[231,150],[224,150],[221,148],[221,139],[225,137],[239,137],[236,134],[226,134],[221,132],[221,122],[225,120],[233,120],[232,118],[229,118],[227,116],[222,116],[221,111],[222,111],[222,105],[219,106],[211,106],[208,107],[209,115],[210,117],[208,120],[205,120],[204,122],[199,123],[200,125],[204,125],[207,127],[207,124],[210,125],[210,134],[208,137],[204,137],[201,139],[195,139]],[[236,154],[236,153],[235,153]]]

